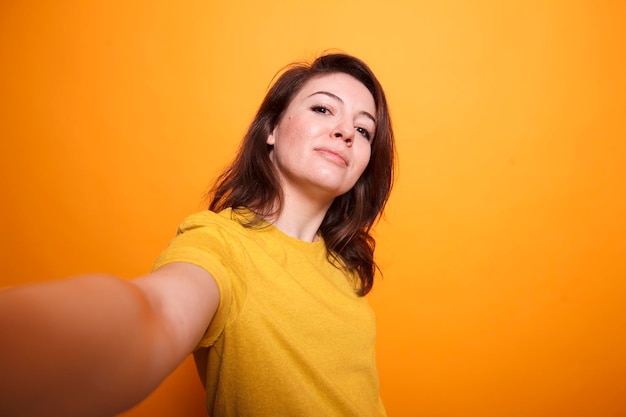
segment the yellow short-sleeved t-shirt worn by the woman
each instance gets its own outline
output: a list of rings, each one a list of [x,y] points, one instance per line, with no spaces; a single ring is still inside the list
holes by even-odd
[[[196,352],[212,417],[380,417],[375,319],[352,274],[274,226],[238,214],[189,216],[155,268],[208,271],[219,308]]]

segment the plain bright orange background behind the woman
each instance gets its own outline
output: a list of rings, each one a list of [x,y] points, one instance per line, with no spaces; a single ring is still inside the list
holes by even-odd
[[[3,1],[0,285],[133,277],[274,73],[338,48],[391,103],[390,416],[626,415],[626,3]],[[186,361],[125,413],[201,416]]]

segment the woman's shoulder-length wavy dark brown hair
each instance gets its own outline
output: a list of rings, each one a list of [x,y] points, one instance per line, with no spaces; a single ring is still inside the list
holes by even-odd
[[[320,234],[330,261],[339,261],[359,279],[359,295],[367,294],[378,269],[374,261],[372,226],[381,216],[394,180],[395,144],[387,99],[370,68],[360,59],[343,53],[325,54],[311,63],[291,64],[279,74],[250,124],[235,158],[217,178],[208,193],[209,210],[232,207],[256,213],[245,226],[260,224],[282,208],[279,177],[270,160],[267,137],[274,130],[293,97],[311,79],[330,73],[345,73],[360,81],[376,105],[376,131],[370,161],[354,187],[335,198]]]

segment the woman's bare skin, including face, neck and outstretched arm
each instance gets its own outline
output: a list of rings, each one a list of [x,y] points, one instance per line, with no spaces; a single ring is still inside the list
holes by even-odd
[[[317,77],[293,98],[267,138],[285,196],[276,227],[316,239],[333,199],[367,166],[375,110],[345,74]],[[133,280],[84,275],[0,291],[0,415],[131,408],[193,351],[219,300],[213,277],[187,263]]]

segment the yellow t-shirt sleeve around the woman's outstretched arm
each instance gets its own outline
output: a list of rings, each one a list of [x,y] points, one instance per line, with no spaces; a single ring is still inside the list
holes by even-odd
[[[231,271],[228,265],[237,257],[232,239],[221,226],[217,214],[206,211],[186,218],[176,236],[156,259],[153,270],[173,262],[187,262],[206,270],[220,293],[217,311],[197,347],[209,347],[219,338],[228,322],[232,306]]]

